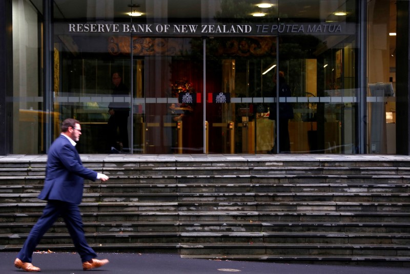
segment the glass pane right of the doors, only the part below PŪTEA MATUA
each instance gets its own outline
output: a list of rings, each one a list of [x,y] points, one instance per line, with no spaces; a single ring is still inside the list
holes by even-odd
[[[318,48],[321,44],[327,47]],[[281,38],[279,153],[356,153],[356,50],[351,37]],[[283,117],[286,104],[292,116]]]

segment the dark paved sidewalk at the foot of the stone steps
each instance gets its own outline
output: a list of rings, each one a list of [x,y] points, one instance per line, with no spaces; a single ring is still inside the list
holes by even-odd
[[[16,252],[0,252],[0,273],[26,273],[13,266]],[[317,264],[285,264],[273,262],[219,261],[183,259],[176,254],[99,253],[99,259],[110,263],[88,273],[100,274],[408,274],[410,268],[368,267]],[[41,273],[85,273],[77,254],[34,254],[33,264]]]

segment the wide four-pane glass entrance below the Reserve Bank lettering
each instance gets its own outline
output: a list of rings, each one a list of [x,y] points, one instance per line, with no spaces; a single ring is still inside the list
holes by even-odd
[[[61,54],[67,92],[54,107],[84,124],[84,153],[355,151],[354,41],[326,37],[335,45],[318,50],[311,36],[82,38],[103,47]]]

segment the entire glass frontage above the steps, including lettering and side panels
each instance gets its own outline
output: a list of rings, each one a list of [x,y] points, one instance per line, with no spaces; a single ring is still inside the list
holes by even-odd
[[[396,2],[263,2],[13,0],[12,152],[396,154]]]

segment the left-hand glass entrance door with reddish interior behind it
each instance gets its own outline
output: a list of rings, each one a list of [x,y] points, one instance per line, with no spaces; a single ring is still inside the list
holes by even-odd
[[[202,38],[132,37],[133,152],[203,153]]]

